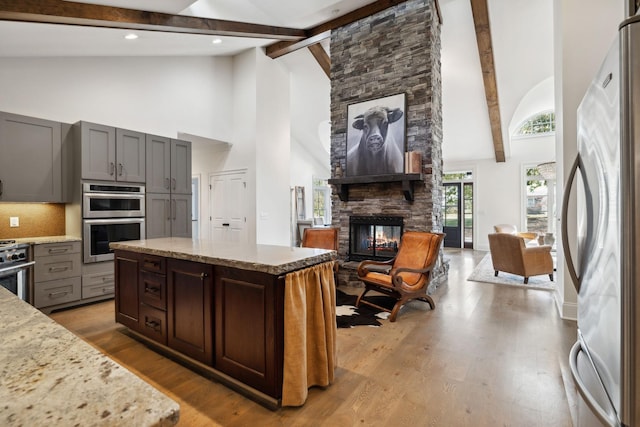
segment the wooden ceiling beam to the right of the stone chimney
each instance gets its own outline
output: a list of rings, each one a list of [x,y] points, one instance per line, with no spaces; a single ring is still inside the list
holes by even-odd
[[[498,85],[493,62],[493,45],[491,42],[491,26],[489,25],[489,9],[487,0],[471,0],[471,12],[476,28],[480,66],[484,80],[484,93],[489,109],[489,122],[493,137],[493,150],[496,162],[504,162],[504,144],[502,141],[502,124],[500,120],[500,103],[498,101]]]

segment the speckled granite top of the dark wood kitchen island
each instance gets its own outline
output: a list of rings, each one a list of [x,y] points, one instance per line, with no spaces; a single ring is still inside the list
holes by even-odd
[[[216,244],[212,240],[188,237],[129,240],[110,244],[112,249],[128,250],[167,258],[284,274],[336,258],[336,251],[246,243]]]

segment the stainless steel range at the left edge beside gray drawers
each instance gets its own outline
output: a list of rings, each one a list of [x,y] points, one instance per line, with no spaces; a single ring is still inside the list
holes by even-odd
[[[30,276],[35,261],[29,254],[30,245],[15,240],[0,240],[0,286],[31,303]]]

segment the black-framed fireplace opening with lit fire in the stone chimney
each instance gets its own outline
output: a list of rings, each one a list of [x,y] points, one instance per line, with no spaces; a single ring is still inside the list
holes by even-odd
[[[399,216],[351,216],[349,260],[388,260],[396,256],[404,220]]]

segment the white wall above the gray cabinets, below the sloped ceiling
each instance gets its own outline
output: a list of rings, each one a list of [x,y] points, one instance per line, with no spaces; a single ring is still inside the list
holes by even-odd
[[[228,59],[2,58],[0,110],[229,140]]]

